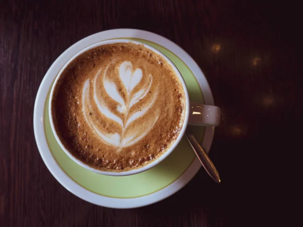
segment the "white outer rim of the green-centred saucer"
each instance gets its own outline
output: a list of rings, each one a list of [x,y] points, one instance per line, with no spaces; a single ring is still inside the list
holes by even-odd
[[[176,57],[180,61],[182,61],[183,64],[185,64],[194,75],[196,79],[196,83],[198,84],[198,86],[200,87],[203,93],[204,103],[213,105],[214,101],[208,82],[203,72],[193,61],[193,59],[182,48],[180,48],[172,41],[160,35],[147,31],[135,30],[135,29],[114,29],[114,30],[103,31],[90,35],[78,41],[77,43],[69,47],[66,51],[64,51],[59,56],[59,58],[53,63],[51,68],[49,68],[49,70],[47,71],[41,82],[41,85],[37,93],[35,106],[34,106],[34,119],[33,119],[35,139],[37,142],[40,155],[45,165],[47,166],[49,171],[53,174],[53,176],[60,182],[60,184],[62,184],[67,190],[69,190],[71,193],[73,193],[74,195],[78,196],[81,199],[84,199],[96,205],[101,205],[106,207],[134,208],[134,207],[145,206],[148,204],[158,202],[162,199],[171,196],[175,192],[179,191],[194,177],[194,175],[197,173],[198,169],[200,168],[201,165],[197,160],[197,158],[195,158],[191,162],[189,167],[187,167],[186,170],[176,180],[172,181],[166,187],[156,190],[155,192],[148,193],[146,195],[142,195],[140,194],[141,192],[138,192],[138,196],[133,196],[131,193],[130,196],[122,196],[122,197],[107,196],[107,195],[102,195],[100,193],[95,193],[94,190],[87,189],[87,187],[78,184],[74,179],[70,177],[70,175],[67,174],[67,171],[64,171],[62,166],[58,164],[57,162],[58,159],[56,160],[54,154],[49,148],[49,142],[54,143],[54,141],[47,141],[47,136],[44,128],[44,124],[46,124],[45,122],[48,120],[48,119],[44,119],[45,116],[44,110],[45,110],[45,103],[48,97],[48,91],[51,88],[61,68],[74,54],[76,54],[81,49],[99,41],[103,41],[107,39],[115,39],[115,38],[141,39],[141,40],[153,42],[169,50],[174,55],[176,55]],[[210,150],[213,140],[213,135],[214,135],[214,128],[206,127],[202,145],[207,152]],[[90,173],[85,172],[84,174],[87,174],[87,176],[93,178],[98,178],[100,179],[100,181],[103,181],[104,179],[101,176],[100,177],[92,176],[92,174]],[[119,177],[113,177],[113,178],[115,178],[115,181],[119,179]],[[120,177],[121,181],[122,178],[124,177]],[[132,180],[134,180],[134,178]],[[102,182],[101,183],[99,182],[99,184],[102,186]]]

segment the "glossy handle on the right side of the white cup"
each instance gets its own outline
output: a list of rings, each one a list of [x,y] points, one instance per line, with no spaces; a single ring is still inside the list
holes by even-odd
[[[190,102],[188,125],[218,126],[220,119],[221,109],[218,106]]]

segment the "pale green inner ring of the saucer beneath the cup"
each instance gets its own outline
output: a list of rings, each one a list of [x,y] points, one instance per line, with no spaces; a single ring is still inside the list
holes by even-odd
[[[181,72],[188,88],[190,100],[204,103],[203,94],[195,77],[178,56],[156,43],[142,39],[133,40],[146,43],[163,52]],[[51,125],[49,124],[48,102],[49,94],[44,109],[45,136],[49,149],[62,170],[74,182],[96,194],[115,198],[134,198],[157,192],[176,181],[191,165],[195,158],[195,154],[189,143],[183,138],[170,156],[154,168],[143,173],[125,177],[111,177],[90,172],[74,162],[60,148],[52,132]],[[192,127],[192,130],[196,137],[201,141],[204,136],[205,128]]]

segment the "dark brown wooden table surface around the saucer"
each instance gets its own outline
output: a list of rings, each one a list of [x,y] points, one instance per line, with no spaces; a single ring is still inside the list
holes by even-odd
[[[265,2],[1,0],[0,226],[265,224],[284,200],[282,164],[302,150],[303,110],[298,7]],[[119,210],[77,198],[48,172],[33,134],[39,84],[71,44],[113,28],[163,35],[201,67],[222,108],[210,152],[220,185],[200,169],[170,198]]]

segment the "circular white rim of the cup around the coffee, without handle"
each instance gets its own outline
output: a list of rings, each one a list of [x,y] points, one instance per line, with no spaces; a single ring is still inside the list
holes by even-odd
[[[62,75],[62,72],[67,68],[67,66],[73,61],[75,60],[79,55],[81,55],[82,53],[98,47],[98,46],[103,46],[103,45],[107,45],[107,44],[114,44],[114,43],[134,43],[134,44],[141,44],[143,45],[145,48],[148,48],[156,53],[158,53],[159,55],[162,56],[162,58],[164,58],[166,60],[166,62],[173,68],[175,74],[178,76],[183,90],[184,90],[184,94],[185,94],[185,106],[186,106],[186,111],[185,111],[185,118],[184,118],[184,122],[182,125],[182,129],[177,137],[177,139],[174,141],[174,143],[169,147],[169,149],[167,151],[165,151],[160,157],[158,157],[156,160],[148,163],[147,165],[144,165],[140,168],[135,168],[135,169],[131,169],[130,171],[122,171],[122,172],[110,172],[110,171],[100,171],[99,169],[93,168],[91,166],[89,166],[88,164],[82,162],[80,159],[76,158],[75,156],[72,155],[72,153],[63,145],[63,143],[61,142],[60,137],[57,134],[57,131],[55,129],[55,125],[54,125],[54,121],[53,121],[53,115],[52,115],[52,100],[53,100],[53,94],[54,94],[54,89],[56,87],[56,84],[59,80],[59,78]],[[94,173],[98,173],[98,174],[102,174],[102,175],[107,175],[107,176],[129,176],[129,175],[134,175],[134,174],[138,174],[138,173],[142,173],[144,171],[147,171],[148,169],[156,166],[157,164],[159,164],[161,161],[163,161],[166,157],[168,157],[171,152],[176,148],[176,146],[179,144],[179,142],[181,141],[182,137],[185,134],[185,130],[188,124],[188,118],[189,118],[189,95],[188,95],[188,90],[185,84],[185,81],[180,73],[180,71],[177,69],[177,67],[174,65],[174,63],[167,58],[167,56],[162,53],[161,51],[159,51],[158,49],[142,43],[142,42],[138,42],[138,41],[134,41],[134,40],[130,40],[130,39],[111,39],[111,40],[105,40],[105,41],[100,41],[97,43],[94,43],[92,45],[89,45],[85,48],[83,48],[82,50],[80,50],[79,52],[77,52],[76,54],[74,54],[72,56],[72,58],[65,63],[65,65],[62,67],[62,69],[59,71],[58,75],[56,76],[56,79],[52,85],[52,89],[51,89],[51,93],[49,95],[49,102],[48,102],[48,115],[49,115],[49,122],[51,124],[51,128],[52,131],[54,133],[54,136],[56,138],[56,141],[59,143],[60,147],[63,149],[63,151],[73,160],[75,161],[77,164],[81,165],[82,167],[88,169],[89,171],[92,171]]]

